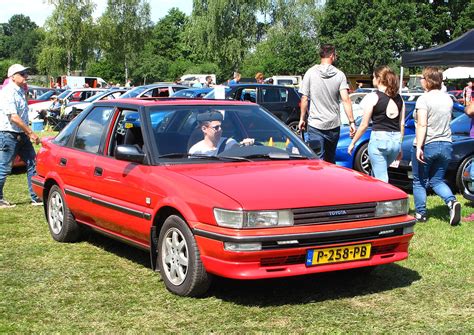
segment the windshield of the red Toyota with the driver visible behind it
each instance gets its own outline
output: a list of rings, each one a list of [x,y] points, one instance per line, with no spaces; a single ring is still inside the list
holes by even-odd
[[[216,114],[221,115],[220,120],[215,120]],[[209,121],[209,115],[214,121]],[[314,158],[297,135],[259,106],[160,106],[147,116],[159,160],[195,163]],[[128,127],[132,124],[140,126],[140,121],[128,121]]]

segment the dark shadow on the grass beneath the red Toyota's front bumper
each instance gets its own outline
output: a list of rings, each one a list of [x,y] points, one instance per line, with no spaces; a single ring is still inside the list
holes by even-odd
[[[216,278],[209,294],[245,306],[282,306],[384,292],[421,279],[418,272],[393,263],[363,270],[251,281]]]

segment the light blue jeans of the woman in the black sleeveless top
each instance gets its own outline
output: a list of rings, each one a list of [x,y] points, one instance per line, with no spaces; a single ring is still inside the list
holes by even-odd
[[[398,131],[374,130],[370,134],[369,159],[372,174],[386,183],[388,183],[388,166],[400,152],[400,137],[401,134]]]

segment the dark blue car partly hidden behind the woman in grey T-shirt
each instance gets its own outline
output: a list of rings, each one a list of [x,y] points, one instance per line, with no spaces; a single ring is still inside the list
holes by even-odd
[[[465,196],[474,194],[473,183],[469,176],[470,166],[474,164],[474,138],[469,137],[470,125],[471,120],[466,114],[451,121],[453,154],[445,175],[446,182],[451,188]],[[390,183],[405,190],[412,188],[411,150],[414,136],[405,136],[402,144],[402,160],[398,167],[388,169]]]

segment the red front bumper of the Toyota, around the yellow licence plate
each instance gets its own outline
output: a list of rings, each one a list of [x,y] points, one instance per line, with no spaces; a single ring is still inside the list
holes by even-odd
[[[403,231],[414,224],[415,221],[410,220],[375,227],[279,236],[228,236],[199,228],[193,231],[206,271],[233,279],[264,279],[375,266],[406,259],[413,233]],[[393,232],[390,232],[391,230]],[[279,244],[281,241],[298,243]],[[260,242],[262,250],[228,251],[224,249],[225,242]],[[369,259],[310,267],[305,264],[308,250],[361,243],[371,244]]]

